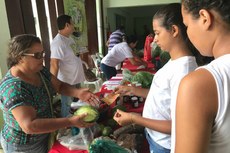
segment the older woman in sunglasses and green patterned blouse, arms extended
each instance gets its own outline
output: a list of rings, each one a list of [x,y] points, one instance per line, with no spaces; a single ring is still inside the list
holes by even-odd
[[[87,114],[52,118],[54,92],[78,97],[91,105],[97,105],[97,97],[86,88],[77,89],[58,80],[43,66],[44,56],[41,41],[34,35],[18,35],[9,43],[9,70],[0,82],[4,153],[47,153],[51,132],[92,125],[82,120]]]

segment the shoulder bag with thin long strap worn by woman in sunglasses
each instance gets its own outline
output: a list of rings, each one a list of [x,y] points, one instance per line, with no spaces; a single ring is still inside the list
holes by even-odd
[[[50,110],[51,110],[51,115],[52,117],[54,117],[54,114],[53,114],[53,103],[52,103],[52,98],[50,96],[50,92],[49,92],[49,89],[47,87],[47,84],[42,76],[42,74],[39,72],[40,76],[41,76],[41,79],[42,79],[42,82],[43,84],[45,85],[45,88],[46,88],[46,92],[48,94],[48,97],[49,97],[49,102],[50,102]],[[50,133],[50,136],[49,136],[49,140],[48,140],[48,149],[50,150],[54,144],[54,142],[56,141],[56,136],[57,136],[57,131],[54,131],[54,132],[51,132]]]

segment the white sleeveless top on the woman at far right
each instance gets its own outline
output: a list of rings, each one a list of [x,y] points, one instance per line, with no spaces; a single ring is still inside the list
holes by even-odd
[[[214,77],[218,92],[218,111],[212,128],[209,153],[230,152],[230,54],[203,66]]]

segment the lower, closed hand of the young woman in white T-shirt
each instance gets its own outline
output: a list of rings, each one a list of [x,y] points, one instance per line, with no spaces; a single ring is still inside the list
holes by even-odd
[[[129,125],[134,123],[133,121],[134,113],[126,113],[117,109],[113,116],[113,119],[121,126]]]

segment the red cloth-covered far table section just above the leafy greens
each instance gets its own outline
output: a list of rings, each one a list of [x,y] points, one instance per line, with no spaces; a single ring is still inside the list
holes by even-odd
[[[131,72],[138,72],[138,71],[148,71],[150,73],[155,73],[155,65],[151,62],[151,61],[146,61],[148,63],[148,67],[147,68],[143,68],[142,66],[136,66],[136,65],[132,65],[131,62],[126,59],[123,64],[122,64],[122,70],[123,69],[128,69]]]

